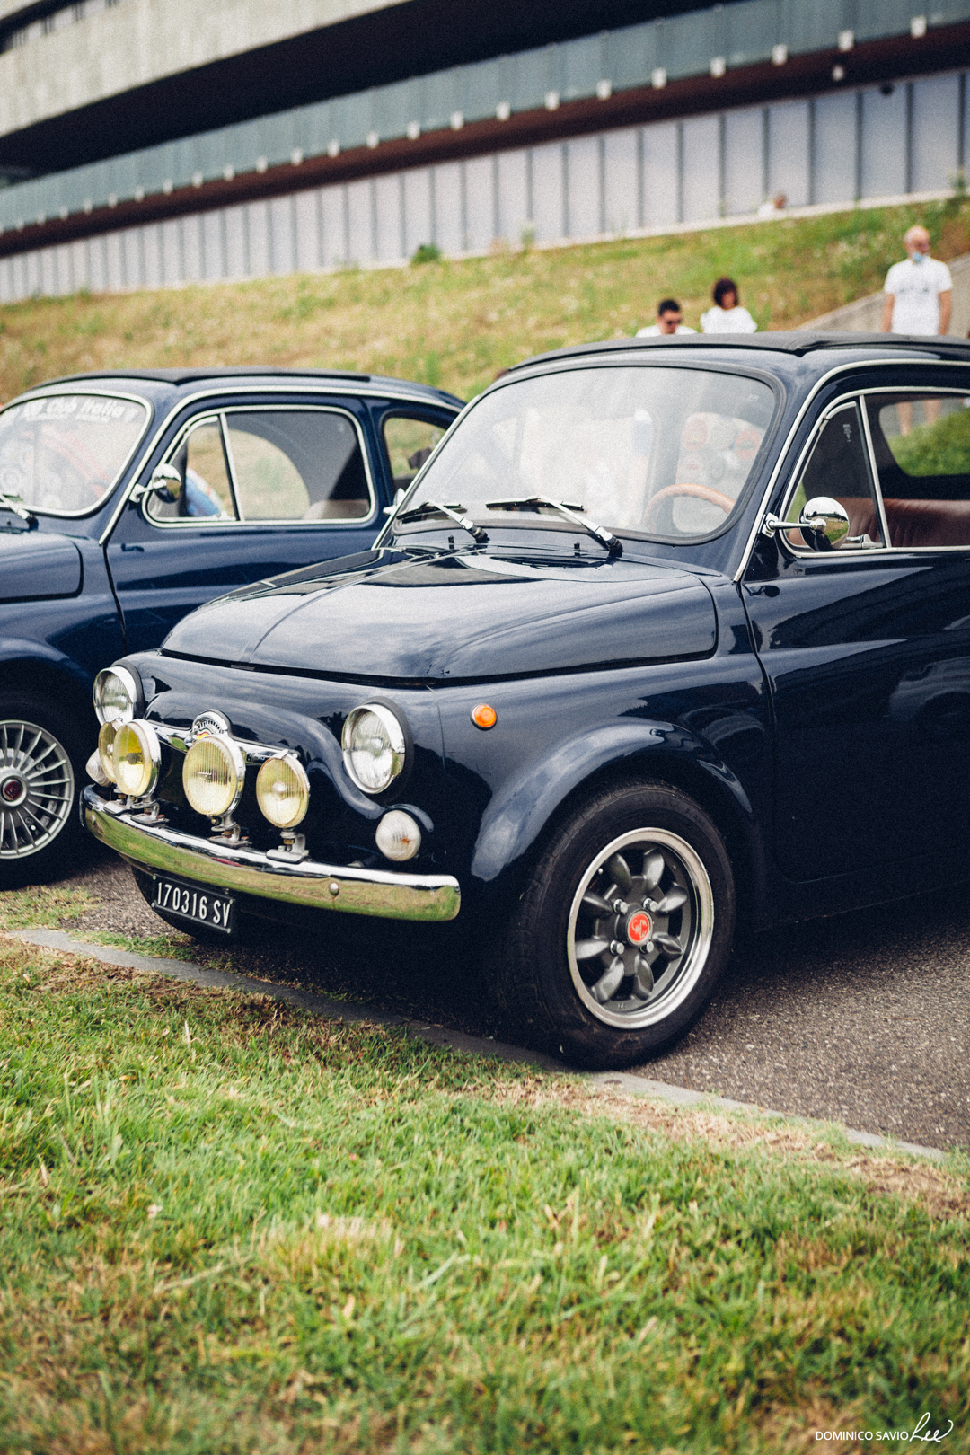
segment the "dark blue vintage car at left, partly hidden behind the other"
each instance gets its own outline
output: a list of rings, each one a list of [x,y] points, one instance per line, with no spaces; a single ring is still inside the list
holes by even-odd
[[[371,546],[460,409],[368,374],[207,368],[55,380],[0,413],[0,889],[76,842],[96,671],[217,594]]]

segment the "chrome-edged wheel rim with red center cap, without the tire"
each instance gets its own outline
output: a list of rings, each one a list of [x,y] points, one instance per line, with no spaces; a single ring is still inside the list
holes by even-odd
[[[697,985],[714,934],[704,861],[678,834],[634,829],[583,873],[566,953],[580,1001],[608,1026],[666,1020]]]

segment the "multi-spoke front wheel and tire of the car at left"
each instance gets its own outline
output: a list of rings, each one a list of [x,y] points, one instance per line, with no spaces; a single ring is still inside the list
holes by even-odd
[[[80,867],[84,744],[57,706],[0,693],[0,889]]]

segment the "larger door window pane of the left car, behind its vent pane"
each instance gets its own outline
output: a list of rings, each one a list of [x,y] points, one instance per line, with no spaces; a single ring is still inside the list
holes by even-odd
[[[372,502],[353,422],[321,409],[227,413],[246,521],[364,519]]]

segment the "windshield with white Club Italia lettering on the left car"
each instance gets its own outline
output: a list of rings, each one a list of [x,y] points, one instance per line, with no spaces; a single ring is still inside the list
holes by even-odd
[[[103,394],[51,394],[0,415],[0,490],[33,511],[83,515],[108,495],[148,410]]]

